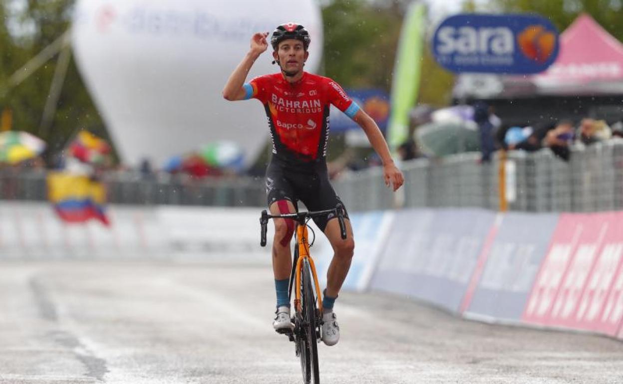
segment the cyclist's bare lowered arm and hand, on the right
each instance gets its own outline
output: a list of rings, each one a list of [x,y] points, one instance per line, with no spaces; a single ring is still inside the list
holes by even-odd
[[[381,129],[379,129],[379,126],[376,125],[374,119],[363,110],[357,111],[353,117],[353,120],[361,126],[363,131],[366,133],[366,136],[368,136],[368,140],[370,141],[370,144],[372,144],[372,148],[374,148],[374,151],[379,154],[381,161],[383,161],[383,179],[385,180],[385,185],[388,187],[391,185],[394,191],[396,191],[404,183],[404,177],[402,176],[402,172],[398,169],[398,167],[396,167],[396,164],[394,164],[394,160],[391,158],[388,143],[385,141],[383,133],[381,133]]]

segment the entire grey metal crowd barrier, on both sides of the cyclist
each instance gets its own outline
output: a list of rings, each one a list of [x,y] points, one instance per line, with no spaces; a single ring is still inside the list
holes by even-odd
[[[564,162],[549,149],[499,153],[480,164],[478,153],[402,164],[405,185],[395,195],[383,183],[382,169],[344,172],[333,185],[351,212],[396,207],[500,208],[500,165],[506,164],[510,210],[596,212],[623,210],[623,140],[573,148]],[[136,172],[107,174],[108,201],[133,205],[208,205],[263,207],[264,180],[224,177],[193,180]],[[511,196],[508,192],[512,190]],[[0,199],[45,200],[45,171],[0,169]]]

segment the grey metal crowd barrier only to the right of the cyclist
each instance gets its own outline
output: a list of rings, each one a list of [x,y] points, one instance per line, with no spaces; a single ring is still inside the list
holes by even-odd
[[[334,185],[350,210],[404,207],[500,208],[500,153],[489,164],[480,154],[404,162],[404,205],[381,180],[380,169],[346,174]],[[525,212],[597,212],[623,210],[623,140],[575,147],[565,162],[549,149],[508,152],[506,177],[515,192],[508,209]],[[506,168],[508,170],[508,167]],[[508,188],[507,188],[508,189]],[[508,192],[508,191],[507,191]],[[508,194],[506,195],[508,197]]]

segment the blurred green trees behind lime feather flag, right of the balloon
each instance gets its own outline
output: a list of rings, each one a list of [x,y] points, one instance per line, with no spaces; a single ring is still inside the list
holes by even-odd
[[[381,5],[384,4],[384,5]],[[344,87],[391,90],[406,2],[334,0],[323,10],[324,73]],[[439,67],[425,44],[419,103],[447,105],[454,75]]]

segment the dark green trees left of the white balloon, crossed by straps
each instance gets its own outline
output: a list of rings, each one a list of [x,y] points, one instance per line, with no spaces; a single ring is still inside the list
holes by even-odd
[[[8,79],[69,29],[74,0],[29,0],[26,9],[19,14],[11,14],[14,8],[9,3],[0,3],[0,17],[4,20],[0,23],[0,108],[12,110],[13,129],[42,136],[40,124],[58,55],[16,87],[10,87]],[[78,129],[88,129],[108,138],[102,118],[72,59],[52,126],[42,137],[48,144],[47,158],[62,150]]]

